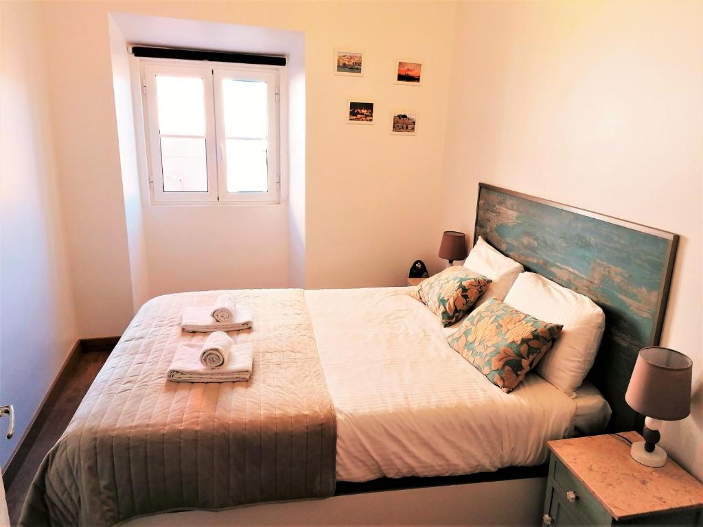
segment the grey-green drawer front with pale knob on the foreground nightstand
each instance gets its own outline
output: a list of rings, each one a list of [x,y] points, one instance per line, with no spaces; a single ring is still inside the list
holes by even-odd
[[[553,507],[560,509],[559,514],[552,516],[568,516],[568,523],[581,525],[610,525],[612,516],[600,502],[591,495],[588,489],[578,481],[574,475],[553,456],[552,473],[552,503]],[[569,500],[569,493],[575,493],[576,498]],[[550,507],[551,510],[552,507]],[[578,519],[578,521],[574,521]],[[567,524],[562,522],[563,524]]]

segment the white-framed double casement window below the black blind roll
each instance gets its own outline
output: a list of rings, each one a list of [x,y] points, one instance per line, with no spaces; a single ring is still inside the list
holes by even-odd
[[[143,61],[156,203],[278,202],[278,68]]]

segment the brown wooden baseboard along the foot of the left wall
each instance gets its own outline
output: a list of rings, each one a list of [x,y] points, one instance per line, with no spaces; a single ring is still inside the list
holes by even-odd
[[[20,471],[22,463],[32,449],[32,445],[34,441],[36,441],[39,431],[41,431],[41,427],[44,427],[46,419],[51,415],[51,410],[56,405],[59,394],[75,372],[76,365],[79,363],[79,358],[82,353],[93,353],[96,351],[107,351],[109,353],[119,340],[120,337],[103,337],[99,339],[79,339],[76,341],[76,344],[73,346],[70,353],[68,353],[63,366],[59,370],[56,379],[53,380],[51,388],[46,392],[44,401],[42,401],[39,409],[34,414],[32,424],[27,428],[25,435],[22,436],[15,451],[10,456],[7,468],[2,475],[5,488],[9,488],[13,479],[15,479],[15,476],[17,476]]]

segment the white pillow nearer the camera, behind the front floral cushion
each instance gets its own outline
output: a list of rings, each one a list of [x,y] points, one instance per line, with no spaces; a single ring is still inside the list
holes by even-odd
[[[515,280],[505,304],[544,322],[563,324],[552,349],[540,360],[536,372],[569,394],[586,378],[598,353],[605,329],[605,313],[593,300],[535,273]]]

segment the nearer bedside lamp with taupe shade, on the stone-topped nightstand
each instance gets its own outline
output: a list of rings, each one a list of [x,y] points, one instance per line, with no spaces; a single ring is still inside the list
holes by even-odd
[[[625,401],[645,416],[645,441],[632,443],[630,455],[647,467],[663,467],[666,451],[657,446],[662,421],[678,421],[691,412],[693,361],[673,349],[643,348],[625,393]]]

